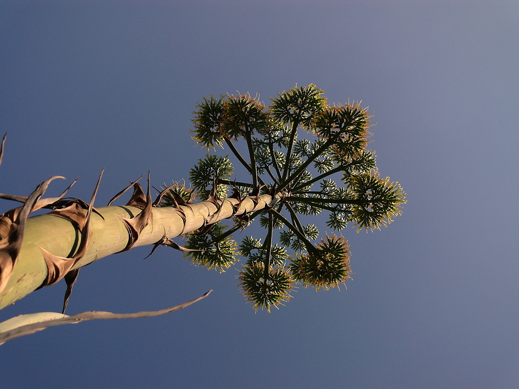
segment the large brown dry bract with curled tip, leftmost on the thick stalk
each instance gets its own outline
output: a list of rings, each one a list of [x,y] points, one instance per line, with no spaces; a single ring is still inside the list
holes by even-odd
[[[0,216],[0,291],[4,290],[18,261],[25,223],[34,205],[43,196],[50,182],[61,176],[53,176],[39,184],[23,206]]]

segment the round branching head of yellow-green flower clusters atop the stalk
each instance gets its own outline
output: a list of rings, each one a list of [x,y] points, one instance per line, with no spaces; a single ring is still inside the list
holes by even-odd
[[[344,284],[351,273],[346,239],[326,234],[319,243],[307,216],[327,214],[326,225],[340,231],[379,229],[401,213],[405,193],[398,182],[382,178],[375,153],[367,148],[370,115],[359,103],[329,105],[315,85],[279,93],[266,106],[249,94],[204,98],[194,112],[193,139],[209,152],[192,169],[193,190],[173,187],[169,199],[201,200],[222,206],[235,199],[269,195],[254,213],[231,217],[234,224],[211,223],[188,235],[186,257],[196,265],[225,271],[245,259],[238,276],[254,309],[288,301],[295,284],[329,289]],[[239,179],[239,180],[238,180]],[[263,239],[233,233],[254,219],[265,228]]]

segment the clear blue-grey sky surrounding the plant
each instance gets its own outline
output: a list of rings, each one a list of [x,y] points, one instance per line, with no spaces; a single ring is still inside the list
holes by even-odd
[[[67,313],[214,291],[164,316],[12,340],[0,387],[519,387],[518,20],[516,0],[0,0],[1,192],[63,175],[88,200],[105,168],[104,205],[148,170],[156,187],[187,179],[204,156],[189,134],[203,96],[268,103],[313,83],[370,107],[379,171],[408,194],[388,228],[343,231],[347,290],[299,288],[270,314],[245,303],[234,268],[166,247],[95,262]],[[0,321],[60,311],[64,290],[38,290]]]

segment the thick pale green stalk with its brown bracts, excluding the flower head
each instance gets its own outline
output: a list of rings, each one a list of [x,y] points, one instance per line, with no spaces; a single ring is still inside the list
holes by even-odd
[[[56,210],[45,215],[26,218],[30,210],[36,209],[37,201],[34,199],[43,195],[41,190],[43,188],[41,186],[39,188],[40,190],[35,191],[33,197],[30,196],[25,200],[25,213],[20,212],[18,217],[18,219],[25,218],[22,240],[8,242],[11,238],[9,233],[2,234],[0,308],[6,307],[39,287],[58,282],[66,274],[95,260],[127,251],[131,247],[168,245],[166,243],[169,239],[198,230],[206,226],[210,219],[211,223],[216,223],[228,217],[255,212],[272,201],[271,196],[261,195],[255,198],[244,198],[239,204],[238,200],[229,198],[221,201],[201,201],[159,207],[158,201],[153,205],[149,200],[149,194],[144,196],[139,184],[135,183],[134,196],[127,205],[98,207],[95,208],[95,212],[90,211],[88,215],[88,211],[81,209],[75,199],[66,200],[72,205],[65,208],[62,208],[65,200],[59,199],[46,205],[55,206]],[[148,198],[147,203],[144,201],[146,198]],[[32,209],[31,203],[33,203]],[[149,212],[146,211],[146,207]],[[70,211],[76,213],[75,219]],[[87,215],[89,226],[85,222]],[[143,215],[146,215],[146,221],[135,228],[134,222]],[[8,224],[9,220],[9,215],[4,214],[2,226]],[[16,223],[16,220],[11,221],[12,223]],[[85,233],[83,237],[81,236],[87,229],[90,230],[89,239]],[[87,241],[88,247],[84,254],[75,257],[80,242]],[[13,243],[20,246],[15,255],[11,254]],[[15,260],[12,259],[13,257]],[[8,267],[9,263],[13,266]],[[51,273],[52,277],[49,276]]]

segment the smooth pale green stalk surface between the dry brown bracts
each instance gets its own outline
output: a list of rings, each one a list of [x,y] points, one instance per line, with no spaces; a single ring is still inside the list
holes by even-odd
[[[204,224],[215,223],[225,218],[264,209],[270,202],[270,195],[262,195],[255,203],[253,198],[245,198],[235,212],[231,204],[238,204],[237,199],[225,199],[220,210],[209,201],[202,201],[180,206],[184,218],[173,207],[153,207],[153,221],[139,234],[134,246],[155,244],[166,235],[175,238],[183,233],[192,232]],[[92,240],[86,254],[73,269],[88,265],[100,258],[119,253],[129,241],[129,232],[121,218],[131,219],[141,213],[132,206],[107,206],[97,208],[103,215],[92,213]],[[60,257],[72,257],[80,241],[80,232],[67,219],[39,215],[30,217],[25,226],[25,233],[20,254],[5,289],[0,293],[0,309],[28,295],[37,289],[47,277],[47,265],[42,249]]]

